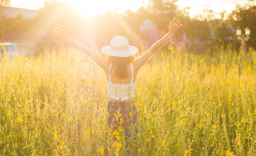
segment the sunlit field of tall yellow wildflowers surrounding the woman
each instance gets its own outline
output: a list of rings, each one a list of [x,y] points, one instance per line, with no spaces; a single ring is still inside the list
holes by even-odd
[[[136,78],[139,155],[256,155],[255,69],[252,49],[156,52]],[[0,156],[127,155],[107,98],[106,75],[79,51],[4,56]]]

